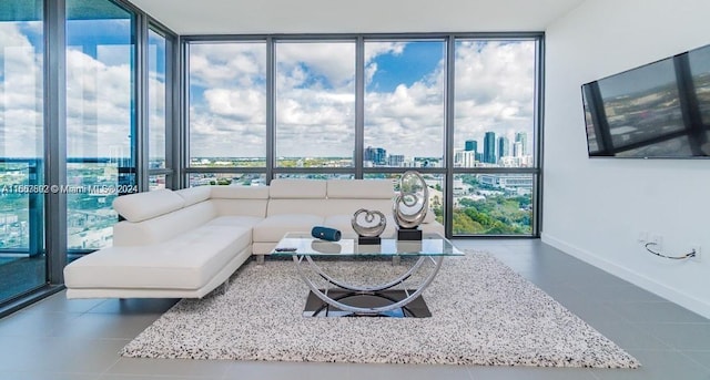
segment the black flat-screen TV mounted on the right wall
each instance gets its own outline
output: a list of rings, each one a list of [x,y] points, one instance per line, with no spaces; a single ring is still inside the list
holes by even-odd
[[[710,158],[710,45],[581,90],[590,157]]]

